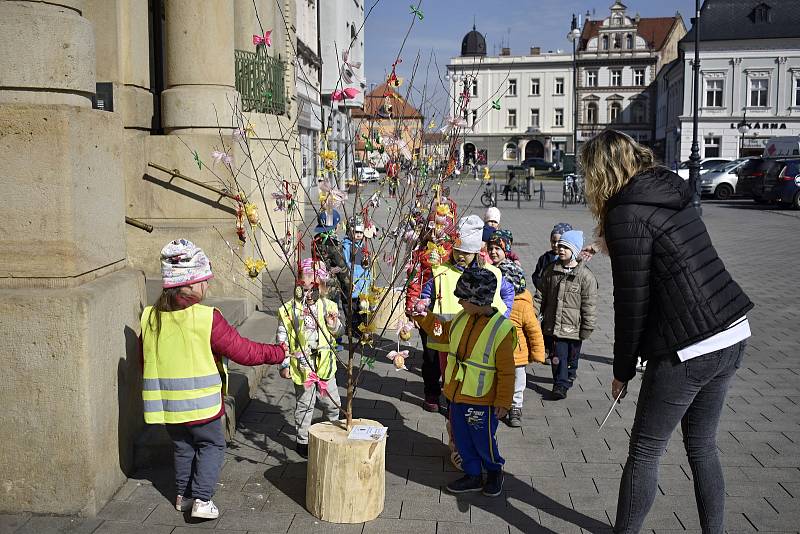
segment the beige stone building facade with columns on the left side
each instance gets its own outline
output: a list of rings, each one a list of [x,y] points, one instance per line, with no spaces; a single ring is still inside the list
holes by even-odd
[[[175,173],[249,195],[284,227],[271,192],[298,175],[295,49],[295,0],[0,3],[0,511],[92,515],[131,471],[139,315],[166,242],[206,250],[214,295],[261,305],[236,203]],[[267,73],[255,92],[249,67]],[[257,239],[280,269],[275,240]]]

